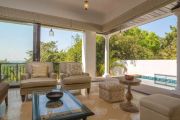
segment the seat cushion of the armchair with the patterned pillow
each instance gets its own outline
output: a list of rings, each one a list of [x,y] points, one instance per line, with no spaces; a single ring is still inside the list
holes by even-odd
[[[91,77],[85,75],[70,76],[64,78],[61,82],[62,84],[66,84],[66,85],[90,83]]]

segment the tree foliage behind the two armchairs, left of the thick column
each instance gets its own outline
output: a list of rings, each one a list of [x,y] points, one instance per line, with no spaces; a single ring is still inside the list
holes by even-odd
[[[41,42],[41,62],[81,62],[82,40],[79,35],[73,37],[74,44],[67,50],[58,50],[57,41]],[[26,61],[32,61],[33,52],[28,51]]]

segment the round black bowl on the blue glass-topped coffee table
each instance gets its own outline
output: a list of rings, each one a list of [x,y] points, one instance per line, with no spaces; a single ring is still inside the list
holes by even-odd
[[[51,101],[58,101],[63,96],[61,91],[51,91],[46,94],[46,97]]]

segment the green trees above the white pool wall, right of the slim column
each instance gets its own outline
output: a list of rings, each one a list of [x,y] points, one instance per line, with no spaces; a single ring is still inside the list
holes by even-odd
[[[137,27],[113,35],[110,39],[110,71],[114,63],[126,70],[123,62],[117,61],[176,59],[177,28],[170,26],[170,29],[164,38]]]

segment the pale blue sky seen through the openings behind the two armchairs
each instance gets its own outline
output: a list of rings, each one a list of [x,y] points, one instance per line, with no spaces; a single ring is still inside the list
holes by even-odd
[[[73,43],[72,36],[82,32],[64,29],[53,29],[54,37],[49,36],[50,28],[41,28],[41,41],[58,41],[58,49],[66,50]],[[33,26],[32,24],[14,24],[0,22],[0,60],[24,61],[26,52],[33,49]]]

